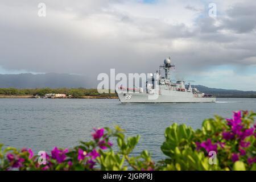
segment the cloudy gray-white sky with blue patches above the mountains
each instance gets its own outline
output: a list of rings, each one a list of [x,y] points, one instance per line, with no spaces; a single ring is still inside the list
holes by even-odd
[[[38,16],[39,3],[46,17]],[[256,90],[256,2],[0,0],[0,55],[0,74],[90,80],[110,68],[155,72],[171,56],[174,80]]]

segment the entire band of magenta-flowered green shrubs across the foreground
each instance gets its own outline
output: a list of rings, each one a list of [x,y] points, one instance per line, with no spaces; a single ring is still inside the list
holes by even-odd
[[[72,149],[55,147],[44,156],[0,145],[0,170],[256,170],[255,115],[237,111],[231,119],[216,116],[196,131],[174,123],[161,146],[167,158],[159,162],[152,162],[146,150],[131,156],[139,136],[125,138],[119,127],[106,127],[94,129],[89,142]],[[117,151],[111,138],[117,138]]]

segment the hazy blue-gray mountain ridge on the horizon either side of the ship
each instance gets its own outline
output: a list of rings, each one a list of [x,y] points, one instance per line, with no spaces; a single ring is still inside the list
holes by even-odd
[[[200,92],[214,94],[217,97],[253,97],[255,91],[242,91],[237,89],[209,88],[204,85],[193,85]],[[68,73],[20,73],[1,75],[0,88],[96,88],[95,82],[90,82],[86,76]]]

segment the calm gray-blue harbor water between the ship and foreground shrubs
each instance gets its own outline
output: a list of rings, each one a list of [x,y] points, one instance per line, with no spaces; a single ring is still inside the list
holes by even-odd
[[[110,99],[1,99],[0,143],[35,151],[54,146],[73,147],[91,139],[93,127],[118,125],[129,136],[141,135],[134,151],[151,151],[163,158],[160,146],[164,130],[172,123],[186,123],[197,129],[205,118],[219,114],[231,117],[233,110],[256,111],[254,98],[218,98],[216,103],[121,104]]]

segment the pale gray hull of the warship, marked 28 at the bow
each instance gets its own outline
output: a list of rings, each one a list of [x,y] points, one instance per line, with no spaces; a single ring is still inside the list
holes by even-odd
[[[117,93],[122,103],[216,102],[215,97],[194,97],[192,93],[170,91],[168,94]]]

